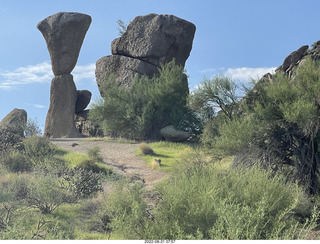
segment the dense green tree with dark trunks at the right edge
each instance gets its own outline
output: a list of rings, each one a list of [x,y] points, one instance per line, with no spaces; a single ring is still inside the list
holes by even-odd
[[[290,169],[291,175],[310,193],[316,193],[320,166],[319,61],[307,60],[292,79],[278,73],[272,83],[262,82],[254,89],[259,96],[247,99],[253,104],[247,104],[239,118],[251,126],[225,122],[219,129],[216,146],[229,149],[228,152],[242,151],[242,163],[251,161],[274,170]],[[226,140],[230,128],[234,131],[229,137],[232,140]]]

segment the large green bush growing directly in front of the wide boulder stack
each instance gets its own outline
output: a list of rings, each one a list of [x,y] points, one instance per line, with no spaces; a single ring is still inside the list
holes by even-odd
[[[197,119],[187,107],[187,77],[174,61],[151,79],[136,76],[130,88],[119,86],[110,76],[103,89],[104,103],[94,106],[90,118],[108,134],[160,139],[160,129],[169,124],[196,132]]]

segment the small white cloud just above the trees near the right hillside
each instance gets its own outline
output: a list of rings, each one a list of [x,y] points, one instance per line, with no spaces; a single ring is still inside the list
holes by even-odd
[[[276,67],[262,67],[262,68],[229,68],[224,74],[231,76],[235,80],[249,81],[250,79],[260,79],[266,73],[274,73]]]

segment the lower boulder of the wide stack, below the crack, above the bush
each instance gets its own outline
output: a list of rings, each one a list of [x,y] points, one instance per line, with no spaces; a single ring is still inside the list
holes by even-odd
[[[121,55],[110,55],[102,57],[97,61],[95,73],[101,96],[103,96],[103,89],[101,86],[110,75],[114,75],[118,85],[129,87],[131,80],[136,74],[152,77],[153,74],[157,72],[157,66],[140,59]]]

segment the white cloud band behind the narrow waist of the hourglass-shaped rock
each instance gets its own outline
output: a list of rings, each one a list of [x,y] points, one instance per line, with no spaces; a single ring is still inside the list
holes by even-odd
[[[72,72],[75,82],[84,79],[95,81],[95,64],[76,66]],[[0,89],[11,90],[22,85],[50,83],[54,75],[50,62],[42,62],[17,68],[13,71],[0,70]]]

